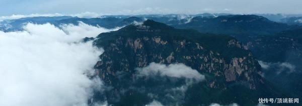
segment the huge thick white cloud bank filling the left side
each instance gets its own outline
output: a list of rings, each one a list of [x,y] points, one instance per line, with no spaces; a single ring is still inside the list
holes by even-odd
[[[109,29],[80,22],[24,26],[24,31],[0,31],[0,105],[88,105],[99,79],[89,79],[102,49],[83,37]]]

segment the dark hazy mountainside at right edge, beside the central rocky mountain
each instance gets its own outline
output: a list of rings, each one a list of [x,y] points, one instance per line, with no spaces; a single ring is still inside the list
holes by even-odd
[[[302,95],[302,29],[251,38],[247,47],[265,65],[266,79],[287,93]]]

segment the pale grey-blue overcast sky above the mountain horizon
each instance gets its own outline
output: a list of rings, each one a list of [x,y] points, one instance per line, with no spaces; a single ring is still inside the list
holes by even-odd
[[[302,13],[301,5],[302,0],[0,0],[0,15],[87,11],[100,14]]]

